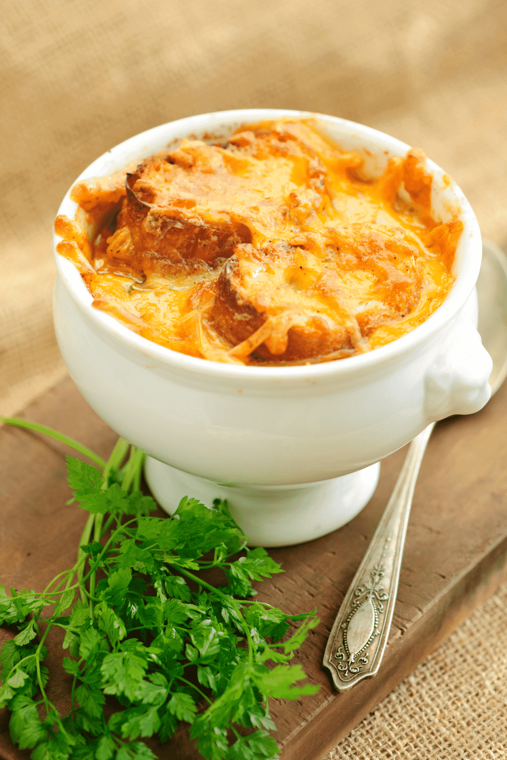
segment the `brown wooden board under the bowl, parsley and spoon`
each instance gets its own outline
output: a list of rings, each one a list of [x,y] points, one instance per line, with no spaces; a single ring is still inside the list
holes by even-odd
[[[107,457],[116,435],[90,409],[70,379],[27,407],[27,419],[55,427]],[[293,660],[321,689],[301,701],[272,701],[283,760],[319,760],[350,733],[471,612],[507,580],[507,385],[473,416],[439,423],[414,496],[398,601],[379,675],[346,694],[334,692],[322,655],[341,600],[360,564],[406,453],[382,462],[369,505],[348,525],[310,543],[271,550],[283,575],[259,584],[259,598],[287,613],[317,607],[320,625]],[[2,524],[0,582],[40,591],[71,567],[86,514],[67,506],[65,447],[20,429],[0,429]],[[192,495],[191,495],[192,496]],[[160,513],[163,514],[163,513]],[[52,632],[51,632],[52,633]],[[0,629],[0,641],[13,632]],[[50,634],[51,635],[51,634]],[[49,698],[68,710],[69,677],[59,634],[50,640]],[[0,755],[27,758],[0,717]],[[170,743],[150,743],[161,760],[200,755],[182,730]]]

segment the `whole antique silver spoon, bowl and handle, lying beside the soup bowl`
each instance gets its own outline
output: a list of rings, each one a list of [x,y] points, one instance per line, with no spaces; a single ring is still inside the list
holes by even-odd
[[[498,391],[507,375],[507,256],[483,241],[477,280],[478,330],[493,359],[490,385]],[[324,655],[339,692],[379,672],[395,610],[410,506],[424,451],[435,423],[410,443],[391,499],[334,621]]]

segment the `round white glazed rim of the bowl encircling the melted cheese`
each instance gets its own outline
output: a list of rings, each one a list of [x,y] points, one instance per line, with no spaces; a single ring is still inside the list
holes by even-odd
[[[375,140],[379,144],[380,150],[384,152],[388,149],[389,154],[404,156],[407,150],[410,150],[410,146],[406,143],[398,140],[397,138],[386,135],[384,132],[373,129],[363,124],[351,122],[347,119],[340,119],[337,116],[328,116],[326,114],[287,110],[287,109],[235,109],[229,111],[214,111],[205,114],[198,114],[195,116],[187,116],[184,119],[177,119],[173,122],[166,122],[166,124],[159,125],[157,127],[147,129],[144,132],[134,135],[132,138],[128,138],[122,143],[117,144],[106,153],[98,157],[86,169],[78,176],[77,179],[72,182],[71,187],[65,194],[65,197],[60,204],[58,214],[67,214],[69,217],[74,218],[75,211],[78,208],[78,204],[70,199],[71,188],[74,187],[76,182],[81,179],[86,179],[92,176],[106,176],[107,171],[100,173],[100,166],[106,163],[108,160],[114,159],[116,155],[122,154],[128,148],[134,144],[141,144],[135,153],[139,154],[139,160],[144,157],[153,155],[154,150],[151,150],[149,144],[158,138],[160,141],[161,136],[165,131],[171,131],[174,133],[191,135],[195,131],[203,131],[213,129],[217,127],[230,126],[231,122],[255,122],[265,119],[280,119],[284,117],[296,117],[299,119],[315,118],[318,121],[333,123],[335,125],[344,128],[344,138],[350,137],[350,135],[356,135],[365,138],[365,140]],[[213,123],[217,122],[217,123]],[[169,136],[168,141],[171,140]],[[178,138],[180,139],[180,138]],[[339,138],[334,138],[339,144]],[[144,149],[144,150],[143,150]],[[127,163],[127,161],[125,161]],[[432,160],[427,160],[427,167],[433,174],[434,179],[442,179],[444,171]],[[116,170],[116,169],[114,169]],[[100,332],[106,332],[109,337],[120,340],[125,347],[135,350],[140,356],[156,360],[158,363],[162,363],[166,366],[173,366],[173,369],[179,369],[180,371],[198,374],[198,375],[211,375],[217,379],[232,379],[235,381],[254,380],[256,383],[263,380],[272,382],[277,380],[307,380],[311,381],[317,378],[328,377],[329,375],[348,375],[350,372],[361,371],[363,369],[373,368],[374,366],[382,365],[393,358],[403,356],[409,350],[422,344],[427,338],[433,336],[443,325],[451,321],[456,313],[464,306],[468,296],[470,296],[474,285],[477,281],[480,270],[481,255],[474,256],[474,247],[477,244],[477,249],[482,252],[480,245],[480,230],[475,217],[474,211],[472,211],[471,205],[465,198],[461,188],[451,181],[450,185],[439,190],[440,193],[450,195],[452,193],[452,204],[458,204],[461,208],[461,220],[464,223],[464,229],[461,233],[458,241],[458,248],[456,250],[455,261],[461,258],[458,274],[456,275],[455,283],[453,283],[451,290],[449,290],[444,302],[439,306],[433,314],[417,328],[411,330],[407,334],[392,340],[391,343],[384,346],[375,348],[368,353],[357,354],[356,356],[350,356],[345,359],[334,359],[331,362],[315,363],[310,365],[297,365],[297,366],[251,366],[251,365],[237,365],[226,364],[220,362],[214,362],[211,359],[200,359],[197,356],[189,356],[189,354],[179,353],[170,348],[160,346],[154,343],[152,340],[148,340],[145,337],[141,337],[137,333],[129,330],[125,325],[114,317],[101,312],[98,309],[93,309],[91,302],[93,297],[89,290],[87,290],[84,284],[81,274],[71,261],[56,252],[55,246],[60,242],[61,238],[53,233],[53,252],[55,254],[56,265],[60,276],[65,284],[68,293],[76,305],[81,309],[87,318],[92,321]],[[459,256],[458,256],[459,252]],[[465,255],[463,255],[465,254]],[[468,254],[468,255],[466,255]]]

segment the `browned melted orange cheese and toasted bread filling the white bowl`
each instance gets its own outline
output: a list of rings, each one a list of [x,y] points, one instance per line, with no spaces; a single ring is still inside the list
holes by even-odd
[[[173,350],[259,365],[363,353],[442,303],[463,225],[430,216],[422,150],[379,179],[362,166],[309,119],[183,140],[75,185],[77,219],[101,231],[90,242],[57,217],[57,250],[93,306]]]

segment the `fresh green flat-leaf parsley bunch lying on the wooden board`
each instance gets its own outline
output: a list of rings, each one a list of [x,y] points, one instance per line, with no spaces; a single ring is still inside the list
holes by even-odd
[[[4,422],[59,439],[100,467],[67,457],[73,500],[90,513],[74,567],[41,594],[11,587],[9,595],[0,586],[0,624],[17,629],[0,652],[0,707],[12,713],[17,746],[33,749],[33,760],[155,758],[138,739],[166,741],[183,720],[207,760],[277,758],[268,698],[318,689],[295,686],[306,676],[288,663],[317,625],[315,610],[289,616],[253,598],[252,581],[283,572],[280,565],[265,549],[246,549],[218,499],[208,509],[185,497],[172,518],[150,517],[156,505],[140,490],[144,454],[125,440],[105,462],[44,426]],[[208,568],[221,568],[228,585],[195,575]],[[43,618],[50,605],[52,615]],[[44,641],[55,626],[65,631],[63,666],[73,676],[66,716],[46,695]],[[106,695],[120,708],[109,720]]]

